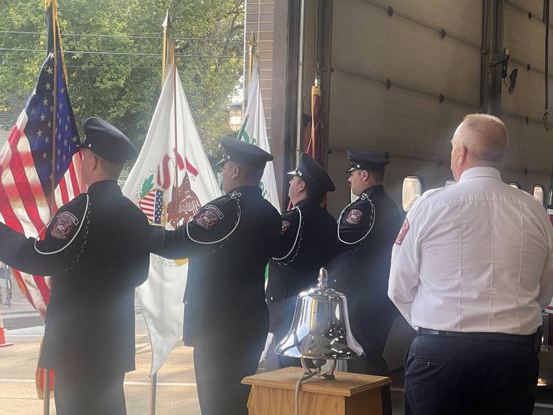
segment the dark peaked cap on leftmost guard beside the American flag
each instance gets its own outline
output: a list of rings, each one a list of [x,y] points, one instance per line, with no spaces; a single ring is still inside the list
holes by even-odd
[[[124,133],[97,117],[84,122],[84,140],[78,147],[118,164],[138,157],[138,151]]]

